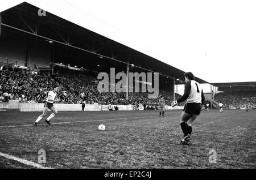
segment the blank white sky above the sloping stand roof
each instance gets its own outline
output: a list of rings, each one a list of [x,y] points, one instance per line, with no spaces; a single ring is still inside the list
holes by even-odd
[[[256,81],[256,0],[54,2],[53,14],[207,82]]]

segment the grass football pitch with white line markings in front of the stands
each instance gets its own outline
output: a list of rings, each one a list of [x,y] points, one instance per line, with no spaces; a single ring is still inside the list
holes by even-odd
[[[181,111],[59,112],[51,126],[32,126],[41,112],[2,112],[0,168],[256,168],[254,110],[202,111],[189,145],[179,144]]]

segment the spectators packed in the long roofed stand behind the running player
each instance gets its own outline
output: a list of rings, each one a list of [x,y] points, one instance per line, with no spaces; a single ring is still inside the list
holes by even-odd
[[[92,75],[82,72],[64,71],[50,75],[40,73],[36,75],[31,70],[20,68],[2,69],[0,71],[0,101],[19,100],[19,102],[43,103],[46,101],[47,94],[52,91],[53,85],[60,86],[57,98],[63,104],[81,104],[84,100],[86,104],[113,104],[113,105],[147,105],[158,104],[159,98],[163,95],[166,104],[171,105],[173,93],[159,91],[159,97],[150,99],[148,93],[129,92],[129,99],[126,100],[126,93],[100,93],[97,89],[98,80]],[[175,99],[180,95],[175,94]]]

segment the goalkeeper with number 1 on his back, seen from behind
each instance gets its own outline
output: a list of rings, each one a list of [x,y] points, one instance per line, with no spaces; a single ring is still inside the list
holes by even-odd
[[[172,106],[187,100],[180,117],[180,126],[184,133],[180,144],[189,145],[192,133],[192,122],[195,121],[197,115],[201,113],[201,105],[204,104],[205,98],[203,89],[201,85],[194,80],[195,76],[192,72],[186,72],[184,77],[186,82],[184,95],[177,101],[173,101]]]

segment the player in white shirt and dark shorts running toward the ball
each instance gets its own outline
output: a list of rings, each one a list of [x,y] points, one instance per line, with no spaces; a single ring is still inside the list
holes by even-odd
[[[57,85],[54,86],[53,91],[50,91],[48,93],[47,96],[47,100],[46,100],[46,104],[44,104],[44,110],[43,110],[43,114],[39,115],[39,117],[36,119],[36,121],[34,122],[35,126],[38,126],[38,122],[46,116],[48,109],[51,110],[53,113],[51,115],[49,115],[49,117],[46,119],[46,123],[48,125],[51,125],[51,123],[49,123],[50,119],[52,119],[53,117],[55,117],[55,115],[57,115],[57,110],[56,108],[53,106],[54,102],[59,102],[60,100],[55,100],[55,97],[57,95],[57,92],[59,92],[59,87]]]

